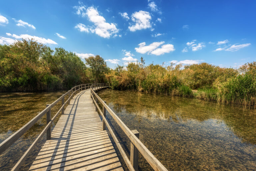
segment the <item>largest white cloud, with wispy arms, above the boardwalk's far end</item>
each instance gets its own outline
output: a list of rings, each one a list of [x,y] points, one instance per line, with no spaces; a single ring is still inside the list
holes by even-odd
[[[107,23],[106,19],[99,15],[99,12],[93,6],[86,8],[81,2],[81,6],[75,6],[77,9],[77,14],[82,17],[87,16],[88,19],[94,23],[94,26],[85,26],[84,24],[77,24],[75,28],[78,28],[80,31],[92,32],[103,38],[110,38],[110,36],[115,36],[119,32],[119,29],[116,28],[115,23]]]

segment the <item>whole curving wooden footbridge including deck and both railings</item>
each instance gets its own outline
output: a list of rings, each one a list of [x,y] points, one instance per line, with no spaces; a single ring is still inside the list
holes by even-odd
[[[4,140],[0,144],[0,154],[46,114],[45,128],[12,168],[12,171],[19,170],[45,133],[47,140],[31,165],[30,171],[123,170],[106,127],[130,171],[138,171],[139,152],[154,170],[167,171],[161,162],[139,140],[139,132],[137,130],[131,131],[106,102],[95,93],[96,90],[106,87],[108,85],[103,83],[82,84],[73,87],[55,102],[46,105],[43,111]],[[64,102],[66,96],[68,98]],[[62,106],[52,117],[51,108],[60,101]],[[100,104],[102,108],[99,107]],[[106,111],[131,141],[129,158],[106,119]],[[62,115],[51,131],[51,125],[60,113]],[[102,116],[102,120],[99,115]]]

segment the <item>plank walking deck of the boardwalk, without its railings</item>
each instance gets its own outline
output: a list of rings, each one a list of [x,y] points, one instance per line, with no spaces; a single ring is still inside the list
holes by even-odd
[[[102,128],[90,90],[81,91],[70,101],[29,170],[123,170]]]

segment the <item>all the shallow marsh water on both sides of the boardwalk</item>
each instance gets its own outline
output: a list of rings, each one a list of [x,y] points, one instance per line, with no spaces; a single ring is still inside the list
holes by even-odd
[[[64,92],[0,93],[0,143]],[[256,170],[254,108],[111,89],[101,90],[98,95],[131,130],[139,131],[140,140],[168,170]],[[108,113],[107,119],[129,155],[129,139]],[[43,130],[45,120],[40,119],[0,155],[0,170],[10,170],[15,165]],[[20,170],[28,170],[45,139]],[[139,169],[151,170],[140,154]]]

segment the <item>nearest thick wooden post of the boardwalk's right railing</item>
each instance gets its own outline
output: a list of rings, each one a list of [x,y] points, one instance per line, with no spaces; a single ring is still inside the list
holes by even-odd
[[[137,130],[132,130],[132,133],[134,133],[134,135],[139,138],[139,132]],[[131,142],[131,150],[130,150],[130,162],[134,168],[135,171],[138,171],[139,165],[138,165],[138,154],[139,151],[138,149],[135,147],[135,145]]]

